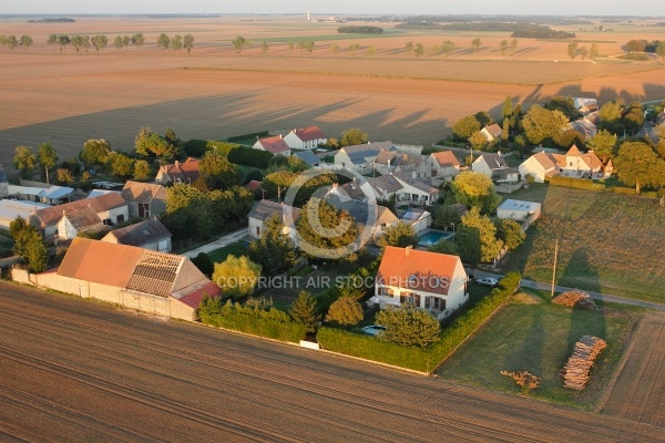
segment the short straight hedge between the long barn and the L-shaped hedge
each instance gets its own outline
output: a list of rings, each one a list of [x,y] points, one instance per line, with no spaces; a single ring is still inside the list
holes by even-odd
[[[231,300],[223,303],[221,299],[205,297],[197,312],[205,324],[291,343],[299,343],[307,333],[307,327],[275,308],[256,309]]]

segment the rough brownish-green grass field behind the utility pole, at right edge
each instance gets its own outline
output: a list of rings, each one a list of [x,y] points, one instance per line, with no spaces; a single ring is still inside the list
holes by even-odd
[[[655,199],[533,185],[511,198],[543,204],[502,271],[550,281],[560,239],[559,285],[665,302],[665,209]]]

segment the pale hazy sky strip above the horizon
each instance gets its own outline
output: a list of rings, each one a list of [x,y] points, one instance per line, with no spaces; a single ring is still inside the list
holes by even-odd
[[[662,0],[22,0],[0,13],[511,13],[663,16]],[[661,6],[661,7],[658,7]]]

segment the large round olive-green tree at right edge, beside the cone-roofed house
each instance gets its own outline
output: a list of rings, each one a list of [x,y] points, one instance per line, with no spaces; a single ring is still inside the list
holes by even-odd
[[[613,159],[618,179],[630,186],[635,186],[640,194],[643,186],[663,186],[663,159],[644,142],[625,142]]]

